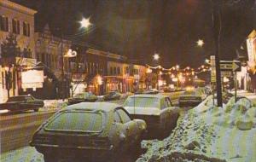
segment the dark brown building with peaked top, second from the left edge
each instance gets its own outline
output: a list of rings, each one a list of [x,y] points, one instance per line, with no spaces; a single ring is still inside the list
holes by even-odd
[[[42,62],[49,76],[45,76],[44,90],[45,93],[56,98],[68,97],[71,82],[71,64],[70,58],[66,57],[72,42],[63,38],[55,37],[49,29],[49,25],[44,26],[43,32],[35,32],[36,58]],[[63,78],[62,78],[63,68]],[[52,82],[49,80],[52,79]],[[50,90],[47,88],[50,87]],[[53,88],[52,88],[53,87]],[[45,96],[42,96],[45,98]]]

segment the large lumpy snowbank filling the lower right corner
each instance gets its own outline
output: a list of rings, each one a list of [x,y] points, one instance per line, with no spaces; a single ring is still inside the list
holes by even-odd
[[[247,98],[214,107],[208,96],[181,114],[171,136],[143,141],[142,161],[256,161],[256,107]]]

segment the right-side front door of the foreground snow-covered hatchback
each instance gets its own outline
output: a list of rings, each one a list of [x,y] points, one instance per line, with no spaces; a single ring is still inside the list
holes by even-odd
[[[122,123],[125,126],[127,139],[130,142],[130,144],[134,143],[137,140],[137,124],[135,121],[131,120],[129,115],[121,108],[117,110],[119,113],[120,119],[122,120]]]

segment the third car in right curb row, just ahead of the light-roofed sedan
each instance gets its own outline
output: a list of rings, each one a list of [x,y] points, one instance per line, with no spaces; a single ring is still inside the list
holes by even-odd
[[[179,107],[196,107],[203,101],[205,95],[198,90],[186,90],[178,98]]]

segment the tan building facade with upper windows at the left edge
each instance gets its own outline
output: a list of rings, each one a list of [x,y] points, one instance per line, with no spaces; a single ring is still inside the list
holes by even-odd
[[[0,1],[0,59],[1,87],[0,102],[9,96],[18,95],[21,90],[22,67],[35,63],[34,14],[9,0]],[[15,48],[11,45],[15,44]],[[30,60],[32,59],[32,60]],[[22,65],[21,65],[21,62]],[[27,63],[27,64],[26,64]]]

